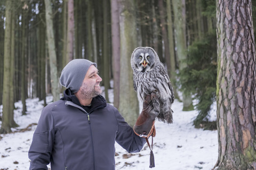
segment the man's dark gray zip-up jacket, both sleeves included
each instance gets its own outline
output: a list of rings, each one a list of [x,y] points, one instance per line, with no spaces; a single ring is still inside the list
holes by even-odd
[[[89,112],[62,99],[42,111],[28,153],[29,169],[47,169],[51,162],[52,170],[113,170],[115,141],[128,152],[139,152],[146,143],[102,96],[93,98]]]

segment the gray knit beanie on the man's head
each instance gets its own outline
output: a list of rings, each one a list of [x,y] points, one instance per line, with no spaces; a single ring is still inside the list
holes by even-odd
[[[77,92],[82,86],[85,74],[92,64],[97,67],[96,63],[85,59],[70,61],[61,72],[60,84],[67,89],[70,88],[74,93]]]

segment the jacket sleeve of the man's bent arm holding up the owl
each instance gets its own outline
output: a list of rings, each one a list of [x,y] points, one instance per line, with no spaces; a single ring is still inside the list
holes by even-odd
[[[131,126],[125,122],[123,116],[117,110],[115,111],[115,116],[118,123],[116,142],[129,153],[139,152],[146,143],[145,138],[140,138],[135,134]]]

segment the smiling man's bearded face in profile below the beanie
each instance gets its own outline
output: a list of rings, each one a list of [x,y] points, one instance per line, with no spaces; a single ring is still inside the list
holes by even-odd
[[[82,86],[77,91],[82,99],[91,99],[102,93],[100,88],[101,77],[98,75],[98,69],[91,65],[85,75]]]

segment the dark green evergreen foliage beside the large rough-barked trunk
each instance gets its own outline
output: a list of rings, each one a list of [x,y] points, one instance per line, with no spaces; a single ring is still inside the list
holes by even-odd
[[[195,95],[199,111],[194,125],[200,127],[202,121],[208,121],[211,105],[216,96],[217,78],[217,37],[211,32],[202,40],[195,41],[188,48],[187,67],[179,73],[181,90]]]

